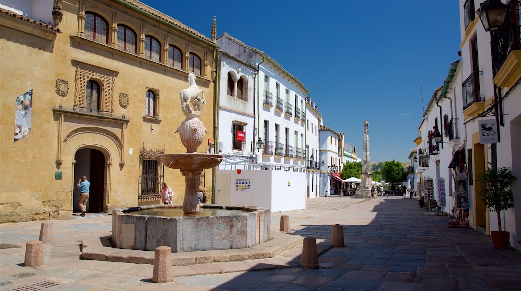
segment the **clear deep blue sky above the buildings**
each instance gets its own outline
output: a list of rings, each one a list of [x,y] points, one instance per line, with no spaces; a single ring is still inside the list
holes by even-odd
[[[460,50],[456,0],[141,0],[210,37],[224,32],[299,79],[324,125],[371,162],[408,161],[425,106]],[[423,95],[423,102],[422,102]]]

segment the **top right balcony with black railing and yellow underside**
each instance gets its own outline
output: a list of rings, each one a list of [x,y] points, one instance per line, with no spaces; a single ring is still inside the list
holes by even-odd
[[[521,2],[511,0],[504,29],[491,31],[494,83],[512,88],[521,78]]]

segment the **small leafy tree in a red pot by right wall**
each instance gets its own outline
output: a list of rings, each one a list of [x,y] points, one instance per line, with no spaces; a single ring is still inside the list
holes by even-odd
[[[510,232],[504,231],[501,224],[501,211],[514,207],[514,195],[510,186],[517,179],[508,167],[486,168],[478,175],[481,186],[480,194],[488,209],[498,214],[498,231],[492,231],[492,242],[496,249],[507,249]]]

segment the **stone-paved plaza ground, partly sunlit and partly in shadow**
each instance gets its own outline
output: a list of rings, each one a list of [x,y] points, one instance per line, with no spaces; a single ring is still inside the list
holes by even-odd
[[[425,213],[414,199],[308,199],[305,210],[272,213],[271,231],[288,215],[292,235],[317,239],[319,269],[299,268],[299,246],[271,259],[175,266],[175,281],[164,284],[152,283],[153,265],[80,259],[83,239],[110,235],[110,216],[54,221],[53,243],[43,245],[44,264],[36,268],[23,261],[41,222],[0,224],[0,289],[521,289],[521,252],[495,250],[489,236]],[[331,248],[334,224],[343,225],[345,247]]]

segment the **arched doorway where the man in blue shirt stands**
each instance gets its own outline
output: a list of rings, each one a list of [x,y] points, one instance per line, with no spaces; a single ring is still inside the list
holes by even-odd
[[[74,159],[75,190],[73,194],[72,211],[80,212],[78,200],[80,191],[76,187],[78,179],[86,176],[91,183],[87,212],[101,213],[103,211],[104,181],[105,181],[105,155],[96,149],[80,149]]]

